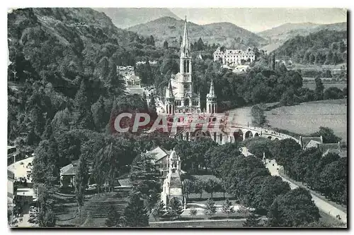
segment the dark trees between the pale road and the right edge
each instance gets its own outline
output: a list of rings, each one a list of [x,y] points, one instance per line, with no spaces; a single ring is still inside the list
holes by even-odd
[[[322,135],[324,143],[338,143],[341,138],[333,134],[330,128],[320,127],[313,136]],[[302,150],[295,140],[272,141],[265,138],[253,138],[243,143],[258,159],[263,152],[269,159],[274,158],[284,167],[285,174],[296,181],[302,181],[307,187],[318,191],[336,203],[347,205],[347,158],[329,152],[324,155],[312,147]],[[342,146],[341,147],[345,147]],[[339,147],[339,146],[338,146]]]

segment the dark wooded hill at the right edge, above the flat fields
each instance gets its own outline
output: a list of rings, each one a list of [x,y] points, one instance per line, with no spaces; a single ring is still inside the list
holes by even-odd
[[[273,53],[301,64],[341,64],[347,60],[347,31],[321,30],[287,40]]]

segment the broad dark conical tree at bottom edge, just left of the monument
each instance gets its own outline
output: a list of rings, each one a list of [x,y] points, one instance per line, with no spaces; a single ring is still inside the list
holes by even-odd
[[[144,201],[139,197],[138,193],[130,196],[130,202],[124,210],[126,227],[148,227],[149,215],[144,206]]]

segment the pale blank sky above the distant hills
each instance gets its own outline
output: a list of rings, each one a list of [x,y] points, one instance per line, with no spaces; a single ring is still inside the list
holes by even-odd
[[[285,23],[330,24],[346,22],[343,8],[170,8],[179,18],[205,25],[229,22],[252,32],[261,32]]]

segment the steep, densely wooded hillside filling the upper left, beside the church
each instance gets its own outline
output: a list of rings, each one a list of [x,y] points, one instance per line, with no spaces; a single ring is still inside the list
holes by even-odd
[[[91,8],[8,13],[9,142],[27,135],[17,146],[34,146],[55,126],[102,131],[123,93],[116,66],[134,65],[137,54],[155,49],[153,41]]]

